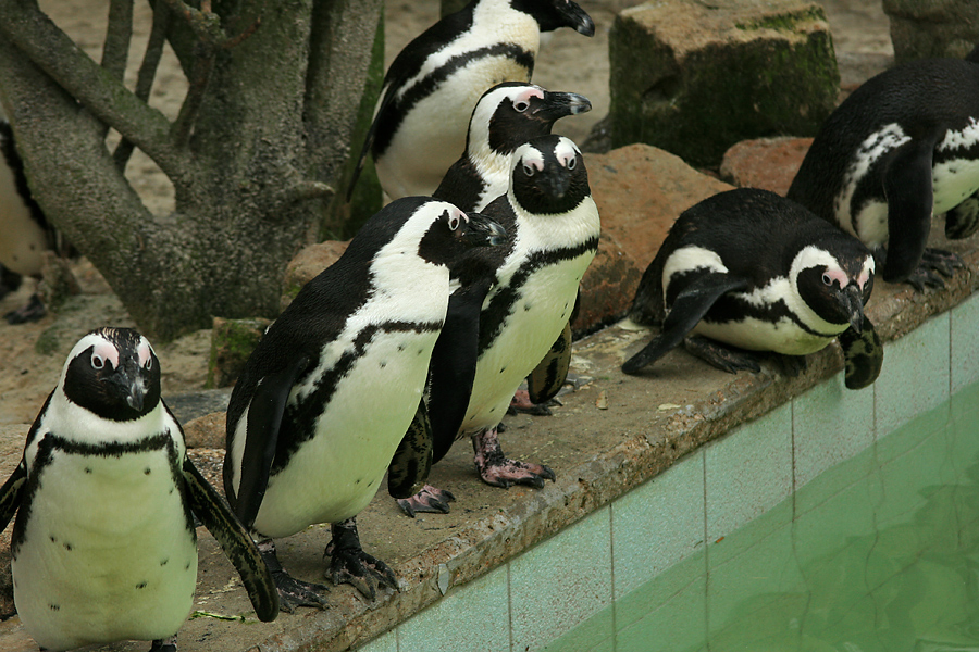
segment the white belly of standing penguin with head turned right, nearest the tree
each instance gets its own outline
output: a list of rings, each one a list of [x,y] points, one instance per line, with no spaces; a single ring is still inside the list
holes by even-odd
[[[256,530],[288,537],[314,523],[338,523],[368,505],[418,410],[436,336],[374,338],[336,388],[315,436],[270,478]]]

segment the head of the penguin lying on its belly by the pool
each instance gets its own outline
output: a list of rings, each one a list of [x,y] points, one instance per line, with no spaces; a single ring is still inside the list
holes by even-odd
[[[841,233],[803,248],[792,263],[791,281],[819,317],[860,333],[873,289],[873,256],[862,242]]]

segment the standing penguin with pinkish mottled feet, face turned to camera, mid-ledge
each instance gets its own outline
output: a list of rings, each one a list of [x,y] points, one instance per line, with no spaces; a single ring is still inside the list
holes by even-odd
[[[468,435],[483,481],[540,488],[554,473],[506,457],[497,429],[525,377],[537,403],[563,384],[570,318],[600,225],[582,154],[570,139],[548,135],[524,143],[513,152],[510,175],[507,193],[482,212],[507,229],[507,246],[470,254],[455,273],[471,289],[454,296],[432,360],[433,460]],[[446,512],[447,498],[426,486],[399,504],[409,515]]]

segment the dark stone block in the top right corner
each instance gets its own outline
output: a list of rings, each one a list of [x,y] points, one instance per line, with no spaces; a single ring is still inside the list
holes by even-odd
[[[963,59],[979,42],[976,0],[883,0],[899,63],[930,57]]]

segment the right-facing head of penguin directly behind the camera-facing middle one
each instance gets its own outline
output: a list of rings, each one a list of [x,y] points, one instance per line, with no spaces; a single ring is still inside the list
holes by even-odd
[[[528,140],[550,134],[559,118],[591,110],[592,103],[584,96],[505,82],[484,92],[476,102],[466,149],[476,155],[510,154]]]

